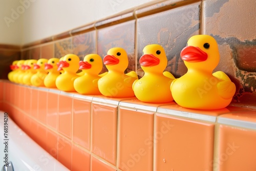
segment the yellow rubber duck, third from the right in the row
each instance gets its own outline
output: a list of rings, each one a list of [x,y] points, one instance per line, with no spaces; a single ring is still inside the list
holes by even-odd
[[[129,64],[127,54],[122,48],[112,48],[103,58],[104,65],[109,70],[98,81],[99,91],[106,97],[133,97],[133,82],[138,79],[135,71],[124,74]]]

